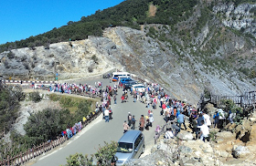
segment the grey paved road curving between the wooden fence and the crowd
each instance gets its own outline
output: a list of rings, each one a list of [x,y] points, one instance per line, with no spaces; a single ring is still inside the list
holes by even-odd
[[[95,80],[100,80],[103,86],[110,85],[109,79],[94,78],[90,80],[75,81],[77,83],[88,83],[94,85]],[[113,85],[113,83],[111,84]],[[141,102],[133,103],[133,99],[129,96],[129,102],[121,103],[122,91],[119,89],[117,97],[117,105],[111,105],[112,107],[112,120],[109,123],[104,122],[102,116],[95,119],[89,126],[81,130],[79,134],[73,137],[68,143],[65,143],[57,150],[52,150],[43,156],[37,157],[36,160],[30,161],[27,165],[35,166],[57,166],[67,163],[66,158],[70,154],[80,152],[82,154],[93,154],[97,151],[99,144],[103,145],[104,141],[110,142],[111,140],[118,141],[123,136],[123,121],[127,119],[128,112],[135,115],[135,119],[139,121],[142,114],[146,115],[148,109]],[[145,136],[145,154],[148,154],[151,147],[154,145],[155,126],[159,124],[162,126],[165,121],[160,116],[160,109],[153,110],[155,122],[153,128],[150,130],[144,130]],[[136,123],[136,129],[138,130],[139,123]]]

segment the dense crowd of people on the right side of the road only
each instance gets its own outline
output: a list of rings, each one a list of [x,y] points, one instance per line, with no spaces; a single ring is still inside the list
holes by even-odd
[[[209,127],[212,121],[208,116],[207,109],[199,111],[196,106],[187,104],[185,101],[171,99],[166,94],[164,88],[161,88],[158,84],[144,83],[144,86],[146,88],[140,91],[133,88],[130,89],[133,102],[144,103],[145,107],[149,109],[147,116],[141,115],[139,119],[139,130],[149,130],[149,127],[152,127],[154,118],[153,110],[150,109],[156,109],[158,103],[161,108],[160,114],[163,115],[166,123],[170,123],[169,128],[165,132],[165,138],[174,138],[180,130],[187,130],[189,127],[196,135],[194,139],[208,140]],[[128,99],[127,92],[127,89],[123,87],[122,102]],[[129,112],[127,120],[123,122],[123,132],[129,129],[134,130],[135,122],[136,119]],[[188,126],[186,122],[188,122]],[[160,127],[157,125],[155,135],[160,134],[160,131]]]

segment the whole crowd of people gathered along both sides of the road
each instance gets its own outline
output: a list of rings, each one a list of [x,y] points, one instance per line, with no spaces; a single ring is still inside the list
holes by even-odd
[[[166,130],[165,138],[174,138],[180,130],[187,130],[186,122],[189,122],[189,128],[196,134],[195,139],[208,140],[209,127],[211,126],[211,120],[208,116],[207,110],[198,111],[196,106],[187,104],[185,101],[171,99],[165,92],[164,88],[160,87],[159,84],[151,83],[148,84],[144,82],[144,89],[133,89],[125,88],[120,82],[116,82],[113,86],[106,86],[103,88],[100,81],[95,82],[95,85],[90,84],[70,84],[70,83],[56,83],[51,85],[50,91],[59,91],[61,93],[69,94],[81,94],[81,93],[91,93],[96,94],[101,97],[101,104],[96,104],[96,110],[102,112],[102,119],[105,122],[109,122],[112,119],[112,99],[113,104],[117,104],[117,91],[118,88],[122,88],[123,92],[121,95],[121,103],[128,102],[130,90],[130,98],[133,102],[141,102],[144,104],[145,108],[148,109],[146,115],[141,115],[139,119],[135,119],[135,116],[130,112],[128,113],[127,119],[123,122],[123,133],[127,130],[134,130],[136,128],[136,122],[139,123],[139,130],[149,130],[153,127],[154,116],[153,110],[159,106],[161,108],[160,115],[163,116],[166,123],[170,123],[170,128]],[[219,112],[214,117],[215,126],[219,127]],[[188,121],[186,121],[188,120]],[[79,123],[80,124],[80,123]],[[79,125],[75,125],[71,129],[66,130],[68,137],[74,135],[77,131]],[[184,127],[184,129],[182,128]],[[159,125],[156,126],[155,134],[160,132]],[[72,133],[72,134],[71,134]]]

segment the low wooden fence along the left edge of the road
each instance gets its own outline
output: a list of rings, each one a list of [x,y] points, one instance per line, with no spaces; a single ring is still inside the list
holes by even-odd
[[[85,121],[82,124],[82,129],[85,128],[88,124],[90,124],[93,119],[96,119],[97,117],[99,117],[100,114],[101,114],[100,111],[93,112],[91,118],[87,119],[87,121]],[[59,137],[57,138],[57,140],[47,141],[38,145],[37,147],[29,149],[25,152],[21,152],[19,155],[16,155],[15,157],[8,156],[7,159],[5,159],[4,161],[0,161],[0,166],[4,166],[4,165],[16,166],[16,165],[24,164],[25,162],[31,159],[34,159],[37,156],[45,152],[48,152],[49,150],[53,150],[55,147],[58,147],[59,145],[64,143],[66,140],[68,140],[67,137]]]

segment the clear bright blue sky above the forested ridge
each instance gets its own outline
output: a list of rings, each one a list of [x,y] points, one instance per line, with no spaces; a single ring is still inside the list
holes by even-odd
[[[1,0],[0,44],[37,36],[124,0]]]

